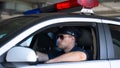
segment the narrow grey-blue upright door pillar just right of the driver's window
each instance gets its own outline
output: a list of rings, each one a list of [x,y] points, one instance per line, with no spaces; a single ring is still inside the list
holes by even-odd
[[[105,40],[105,33],[103,29],[103,24],[98,23],[98,35],[99,35],[99,60],[106,60],[107,59],[107,46]]]

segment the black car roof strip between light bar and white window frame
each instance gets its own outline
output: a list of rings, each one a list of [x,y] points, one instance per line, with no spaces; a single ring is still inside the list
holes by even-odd
[[[85,17],[85,18],[96,18],[96,19],[106,19],[106,20],[114,20],[114,21],[120,21],[119,19],[115,17],[105,17],[105,16],[99,16],[96,14],[80,14],[80,13],[41,13],[41,14],[34,14],[34,15],[28,15],[28,16],[38,16],[39,18],[57,18],[57,17]]]

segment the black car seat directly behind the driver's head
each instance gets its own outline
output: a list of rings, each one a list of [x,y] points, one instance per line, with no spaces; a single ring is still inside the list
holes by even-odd
[[[80,28],[80,37],[77,42],[78,46],[88,52],[88,60],[93,59],[93,38],[90,29]]]

